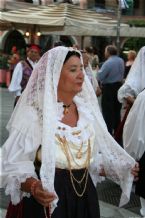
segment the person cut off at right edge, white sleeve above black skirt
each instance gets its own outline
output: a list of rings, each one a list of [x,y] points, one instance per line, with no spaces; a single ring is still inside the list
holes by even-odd
[[[125,150],[139,161],[139,180],[135,184],[135,193],[140,196],[141,215],[145,217],[145,90],[136,98],[123,129]]]

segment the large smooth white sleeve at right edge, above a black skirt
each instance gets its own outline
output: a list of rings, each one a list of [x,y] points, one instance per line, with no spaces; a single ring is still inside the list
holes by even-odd
[[[125,150],[139,160],[145,151],[145,91],[135,100],[123,130]]]

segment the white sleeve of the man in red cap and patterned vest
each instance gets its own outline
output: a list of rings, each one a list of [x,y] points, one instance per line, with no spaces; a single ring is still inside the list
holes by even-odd
[[[22,74],[23,74],[23,69],[22,69],[22,64],[19,62],[13,72],[12,80],[9,85],[9,91],[10,92],[15,92],[16,96],[21,95],[21,81],[22,81]]]

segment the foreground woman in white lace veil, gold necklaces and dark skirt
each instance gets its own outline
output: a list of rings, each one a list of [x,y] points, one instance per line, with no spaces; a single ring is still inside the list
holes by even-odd
[[[42,56],[7,129],[7,218],[99,218],[102,175],[120,185],[120,206],[129,201],[138,165],[109,134],[79,51]]]

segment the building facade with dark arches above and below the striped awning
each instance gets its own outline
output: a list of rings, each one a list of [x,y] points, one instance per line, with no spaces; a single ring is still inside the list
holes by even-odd
[[[121,1],[121,0],[120,0]],[[108,16],[113,18],[117,18],[117,0],[1,0],[0,7],[1,9],[13,9],[7,8],[7,3],[30,3],[34,5],[49,5],[55,2],[67,2],[70,4],[80,5],[80,8],[89,8],[96,10],[97,12],[105,13]],[[122,19],[123,22],[128,22],[128,20],[133,19],[144,19],[145,17],[145,1],[144,0],[126,0],[129,5],[129,9],[122,9]],[[9,6],[10,7],[10,4]],[[11,4],[13,7],[13,4]],[[140,17],[138,17],[140,16]],[[141,17],[142,16],[142,17]],[[137,33],[136,33],[137,34]],[[26,35],[26,32],[22,30],[7,30],[0,32],[0,49],[4,50],[6,53],[9,53],[12,45],[17,44],[18,47],[25,47],[26,44],[36,43],[42,45],[42,47],[46,47],[49,49],[54,41],[62,40],[65,44],[71,46],[73,44],[78,44],[80,48],[89,45],[95,45],[99,50],[102,50],[102,45],[106,45],[109,43],[115,43],[114,37],[77,37],[77,36],[46,36],[46,35],[37,35],[35,36],[35,40],[32,40],[30,36]],[[145,38],[145,35],[143,35]],[[120,42],[121,46],[128,39],[128,37],[121,37]],[[83,42],[82,42],[83,41]],[[23,43],[22,43],[23,42]],[[25,43],[24,43],[25,42]],[[45,42],[45,43],[44,43]],[[23,46],[22,46],[23,44]],[[45,44],[45,45],[44,45]]]

